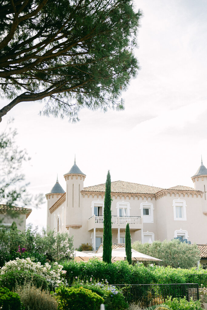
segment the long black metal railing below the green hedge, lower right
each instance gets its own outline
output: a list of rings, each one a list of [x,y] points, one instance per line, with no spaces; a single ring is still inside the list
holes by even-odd
[[[168,296],[190,300],[199,299],[197,283],[187,284],[115,284],[127,302],[139,302],[142,308],[164,303]]]

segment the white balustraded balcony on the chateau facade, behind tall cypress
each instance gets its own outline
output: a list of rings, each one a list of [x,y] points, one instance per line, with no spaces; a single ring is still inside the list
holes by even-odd
[[[101,215],[93,215],[88,219],[88,231],[93,228],[102,228],[103,229],[104,217]],[[126,224],[129,224],[130,230],[139,230],[143,228],[143,219],[141,216],[112,216],[111,217],[112,229],[121,228],[125,229]]]

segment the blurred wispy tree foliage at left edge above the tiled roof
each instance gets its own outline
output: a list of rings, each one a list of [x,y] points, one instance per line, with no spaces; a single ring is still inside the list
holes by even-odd
[[[25,183],[25,175],[21,173],[21,166],[30,158],[25,150],[16,145],[16,135],[16,130],[11,128],[0,134],[0,201],[5,204],[5,208],[7,206],[7,215],[18,220],[19,213],[12,210],[13,204],[20,207],[38,206],[43,196],[33,197],[27,192],[28,184]]]

